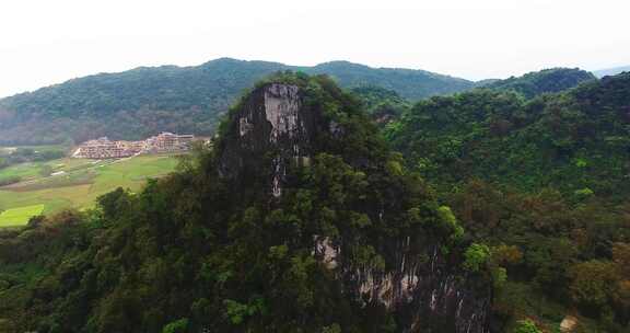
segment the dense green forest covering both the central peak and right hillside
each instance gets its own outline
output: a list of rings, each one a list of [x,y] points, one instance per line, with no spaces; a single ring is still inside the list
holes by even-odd
[[[545,92],[275,76],[170,177],[1,231],[0,331],[628,332],[630,74]]]

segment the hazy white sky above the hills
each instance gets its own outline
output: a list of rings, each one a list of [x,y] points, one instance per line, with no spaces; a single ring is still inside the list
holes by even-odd
[[[628,0],[2,0],[0,96],[219,57],[466,79],[630,65]]]

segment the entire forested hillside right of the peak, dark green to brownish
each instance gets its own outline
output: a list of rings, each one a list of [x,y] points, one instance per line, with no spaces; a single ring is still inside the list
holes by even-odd
[[[579,332],[628,332],[630,74],[529,101],[432,97],[385,135],[470,237],[501,253],[498,318],[551,331],[578,313]]]

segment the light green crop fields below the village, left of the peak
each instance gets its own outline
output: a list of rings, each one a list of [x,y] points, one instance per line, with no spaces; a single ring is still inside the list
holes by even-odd
[[[0,210],[33,205],[43,205],[44,214],[63,208],[89,208],[98,196],[117,187],[138,192],[147,179],[166,175],[177,163],[175,157],[165,154],[104,161],[60,159],[45,163],[57,173],[48,177],[39,174],[42,165],[13,165],[1,170],[0,179],[7,174],[21,174],[22,182],[0,187]]]

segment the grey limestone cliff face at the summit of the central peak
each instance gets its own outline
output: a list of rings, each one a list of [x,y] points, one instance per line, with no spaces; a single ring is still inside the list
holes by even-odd
[[[289,163],[308,163],[322,116],[303,105],[300,88],[269,83],[256,89],[233,115],[222,150],[220,170],[233,179],[265,172],[267,188],[282,194]]]

